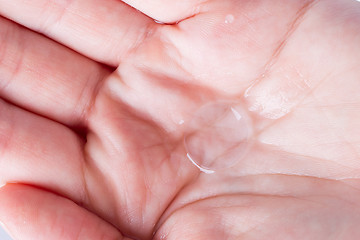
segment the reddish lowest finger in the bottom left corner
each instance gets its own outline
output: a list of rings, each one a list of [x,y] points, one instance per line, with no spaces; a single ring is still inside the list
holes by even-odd
[[[109,223],[74,202],[27,185],[0,189],[0,220],[14,239],[124,239]]]

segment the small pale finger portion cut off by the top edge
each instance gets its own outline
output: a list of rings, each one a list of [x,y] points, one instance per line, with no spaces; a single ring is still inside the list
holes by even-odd
[[[165,23],[174,23],[198,14],[206,0],[123,0],[139,11]]]

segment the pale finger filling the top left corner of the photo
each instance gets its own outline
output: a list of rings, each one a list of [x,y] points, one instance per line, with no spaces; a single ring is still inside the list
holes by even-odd
[[[0,0],[0,14],[113,66],[155,25],[117,0]]]

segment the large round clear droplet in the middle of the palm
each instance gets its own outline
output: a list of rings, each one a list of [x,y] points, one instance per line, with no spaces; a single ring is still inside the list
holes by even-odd
[[[239,103],[207,104],[189,123],[184,137],[187,157],[205,173],[232,167],[247,154],[251,134],[250,118]]]

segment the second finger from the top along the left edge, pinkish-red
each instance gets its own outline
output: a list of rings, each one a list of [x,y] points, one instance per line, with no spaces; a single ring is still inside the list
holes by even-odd
[[[109,70],[0,17],[0,96],[38,114],[80,125]]]

